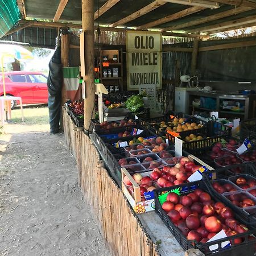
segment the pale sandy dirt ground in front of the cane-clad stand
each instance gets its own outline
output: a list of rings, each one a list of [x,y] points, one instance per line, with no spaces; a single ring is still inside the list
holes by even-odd
[[[63,133],[49,134],[48,117],[41,121],[25,115],[0,135],[0,255],[111,255],[82,201]]]

